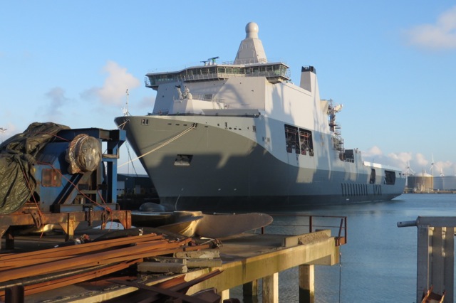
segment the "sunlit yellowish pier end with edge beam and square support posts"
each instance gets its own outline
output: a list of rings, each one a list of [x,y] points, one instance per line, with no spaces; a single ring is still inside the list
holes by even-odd
[[[195,285],[190,292],[215,287],[222,292],[222,299],[227,299],[229,289],[246,285],[245,292],[251,288],[249,285],[258,285],[257,281],[262,279],[263,302],[279,302],[279,272],[299,267],[299,302],[314,302],[314,265],[339,262],[339,246],[329,230],[290,237],[242,235],[223,243],[220,253],[224,264],[218,267],[222,274]],[[208,270],[192,275],[196,277]],[[252,293],[255,295],[255,291]]]

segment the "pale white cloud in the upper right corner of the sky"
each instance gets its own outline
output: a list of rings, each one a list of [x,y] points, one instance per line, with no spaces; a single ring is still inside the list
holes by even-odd
[[[456,49],[456,6],[442,13],[435,24],[421,24],[405,31],[408,42],[433,50]]]

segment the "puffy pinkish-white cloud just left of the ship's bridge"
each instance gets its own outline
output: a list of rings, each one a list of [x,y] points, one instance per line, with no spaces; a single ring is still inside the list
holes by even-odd
[[[113,61],[108,61],[103,68],[108,73],[103,87],[93,87],[81,94],[81,97],[98,97],[105,105],[123,105],[126,98],[126,90],[140,86],[140,80],[127,72],[126,68],[119,66]]]

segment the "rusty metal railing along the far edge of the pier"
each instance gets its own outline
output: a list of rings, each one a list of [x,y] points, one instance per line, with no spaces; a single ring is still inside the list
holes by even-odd
[[[296,213],[269,213],[274,221],[271,225],[261,228],[261,233],[293,234],[314,233],[318,230],[331,230],[331,235],[336,235],[336,245],[347,243],[347,217],[346,216],[310,216]]]

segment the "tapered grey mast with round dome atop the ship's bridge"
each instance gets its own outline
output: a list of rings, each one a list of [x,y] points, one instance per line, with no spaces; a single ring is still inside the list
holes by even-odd
[[[257,23],[247,23],[245,39],[241,41],[239,50],[237,50],[234,64],[267,63],[263,43],[258,38],[258,31]]]

